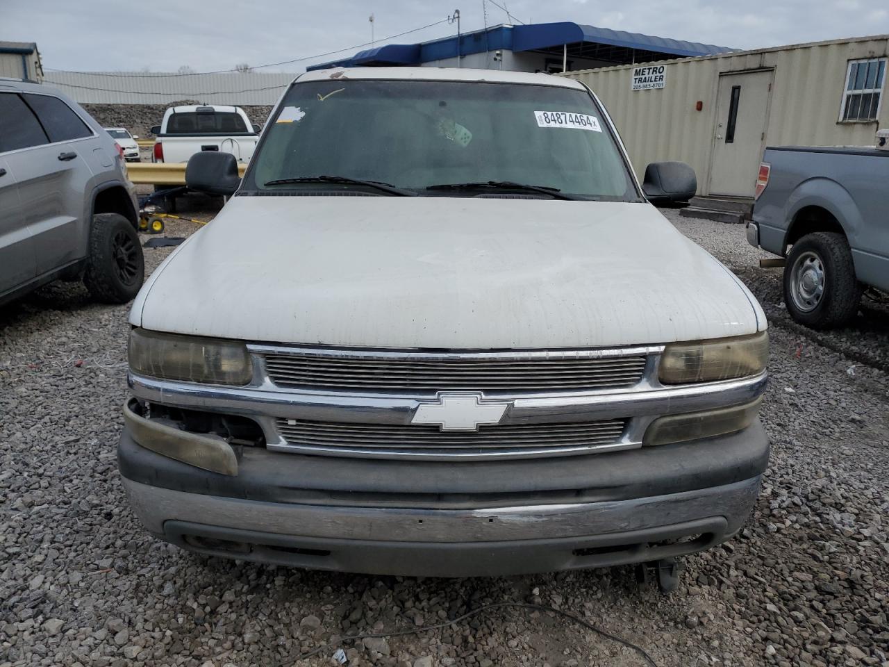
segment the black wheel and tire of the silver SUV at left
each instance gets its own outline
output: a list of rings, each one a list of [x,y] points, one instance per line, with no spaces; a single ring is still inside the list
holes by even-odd
[[[144,279],[145,259],[132,222],[118,213],[92,216],[84,273],[92,298],[103,303],[132,301]]]

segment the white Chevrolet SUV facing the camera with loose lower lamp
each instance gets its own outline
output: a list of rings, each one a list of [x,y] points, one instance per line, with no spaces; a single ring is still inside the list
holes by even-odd
[[[133,303],[118,462],[189,550],[390,575],[649,563],[736,534],[769,445],[741,281],[645,197],[593,92],[444,68],[299,76],[234,194]]]

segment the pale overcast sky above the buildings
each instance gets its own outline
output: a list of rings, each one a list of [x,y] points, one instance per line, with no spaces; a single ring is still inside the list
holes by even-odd
[[[738,48],[889,33],[889,0],[496,0],[518,21],[567,20]],[[0,0],[0,40],[36,42],[44,68],[197,71],[296,59],[443,20],[460,8],[464,32],[482,28],[470,0]],[[509,22],[487,0],[488,24]],[[396,40],[453,35],[447,23]],[[299,72],[305,64],[260,71]]]

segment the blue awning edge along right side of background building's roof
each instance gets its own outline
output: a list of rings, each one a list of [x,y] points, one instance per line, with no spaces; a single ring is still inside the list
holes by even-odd
[[[735,51],[728,46],[684,42],[667,37],[583,26],[577,23],[538,23],[513,28],[513,51],[544,51],[563,44],[605,44],[636,51],[664,53],[684,57],[716,55]]]

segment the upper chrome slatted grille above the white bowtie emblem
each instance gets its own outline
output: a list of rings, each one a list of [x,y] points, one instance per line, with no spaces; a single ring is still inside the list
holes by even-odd
[[[621,350],[509,353],[363,352],[294,349],[265,353],[279,387],[359,391],[573,391],[629,387],[647,357]]]

